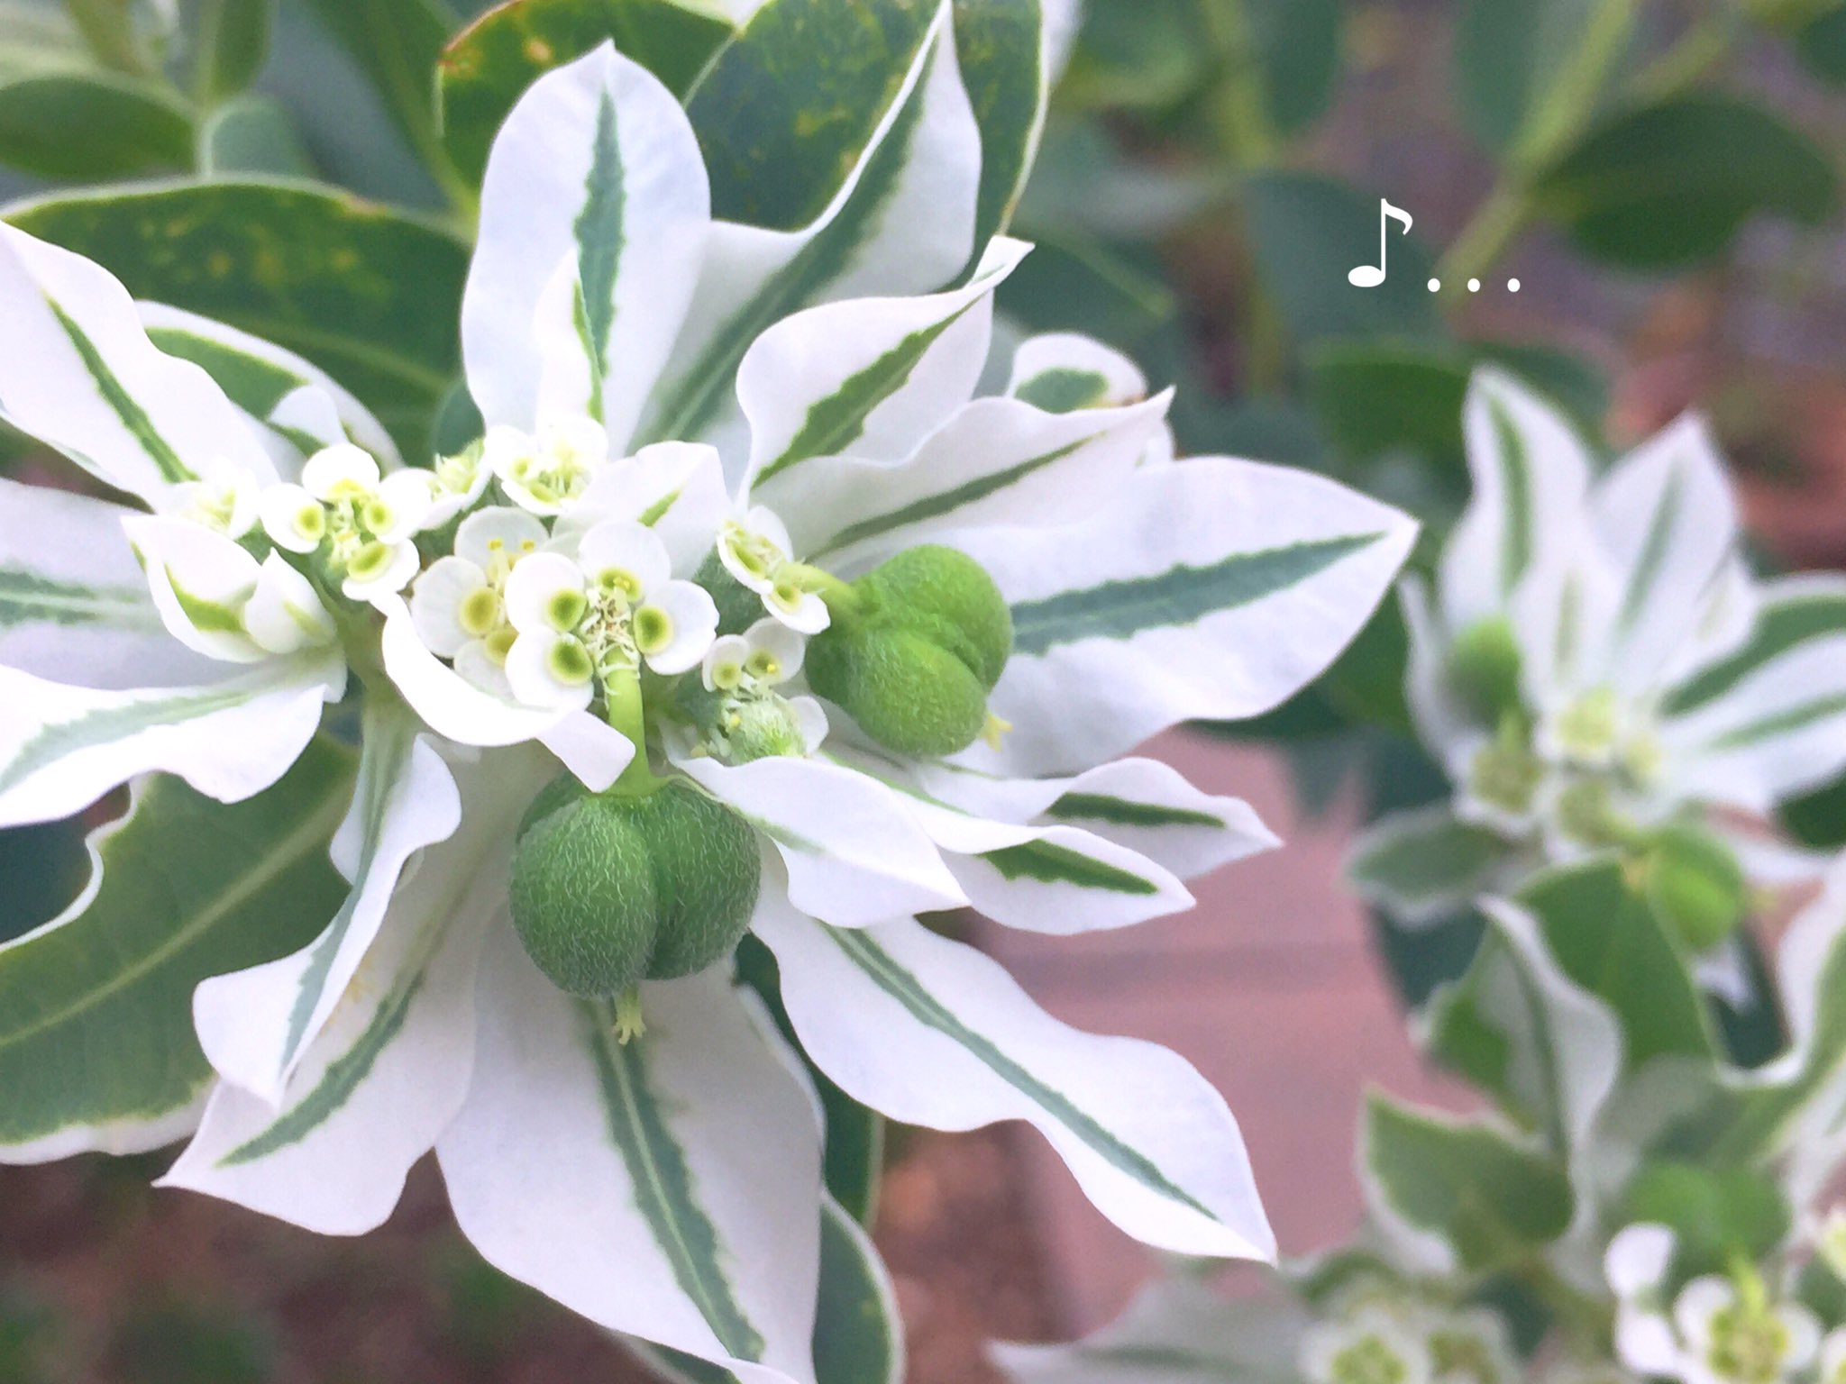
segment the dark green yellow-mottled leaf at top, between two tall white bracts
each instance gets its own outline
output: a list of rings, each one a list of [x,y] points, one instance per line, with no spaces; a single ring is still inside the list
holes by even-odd
[[[871,148],[917,70],[940,0],[775,0],[705,70],[687,114],[711,214],[794,231]]]

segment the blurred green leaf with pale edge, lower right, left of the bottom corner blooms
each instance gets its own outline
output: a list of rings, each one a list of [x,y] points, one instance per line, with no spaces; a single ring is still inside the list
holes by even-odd
[[[1564,1170],[1488,1124],[1366,1100],[1364,1168],[1401,1222],[1440,1235],[1473,1273],[1521,1264],[1569,1229]]]

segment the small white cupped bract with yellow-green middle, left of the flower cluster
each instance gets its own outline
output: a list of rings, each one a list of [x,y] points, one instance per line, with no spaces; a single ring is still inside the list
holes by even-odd
[[[268,651],[244,627],[257,592],[257,559],[223,533],[185,519],[122,520],[148,574],[148,592],[166,631],[209,659],[260,662]]]

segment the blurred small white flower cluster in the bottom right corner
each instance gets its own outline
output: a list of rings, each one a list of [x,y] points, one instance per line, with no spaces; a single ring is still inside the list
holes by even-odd
[[[1754,1264],[1672,1288],[1678,1247],[1665,1225],[1628,1225],[1610,1240],[1615,1353],[1639,1375],[1682,1384],[1846,1384],[1846,1327],[1824,1330],[1811,1308]]]

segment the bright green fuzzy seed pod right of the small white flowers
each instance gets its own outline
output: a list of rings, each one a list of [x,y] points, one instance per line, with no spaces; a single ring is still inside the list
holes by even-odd
[[[1013,648],[986,570],[953,548],[908,548],[853,583],[857,605],[809,642],[809,685],[899,755],[967,749]]]

